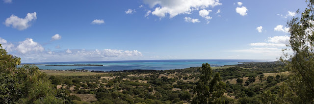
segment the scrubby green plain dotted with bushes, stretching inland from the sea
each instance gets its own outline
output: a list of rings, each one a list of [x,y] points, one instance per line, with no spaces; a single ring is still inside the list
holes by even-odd
[[[289,74],[277,62],[248,62],[211,67],[226,83],[226,103],[258,103],[263,91],[276,92]],[[41,70],[71,102],[95,104],[188,104],[199,80],[199,68],[125,70],[105,73]],[[83,70],[86,71],[86,70]],[[58,91],[58,92],[59,92]]]

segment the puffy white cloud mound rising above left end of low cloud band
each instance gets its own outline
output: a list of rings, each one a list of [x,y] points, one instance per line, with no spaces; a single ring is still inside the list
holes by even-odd
[[[28,52],[43,52],[45,49],[38,44],[37,42],[34,42],[33,39],[27,38],[23,42],[19,42],[18,47],[16,48],[18,52],[21,52],[23,54]]]

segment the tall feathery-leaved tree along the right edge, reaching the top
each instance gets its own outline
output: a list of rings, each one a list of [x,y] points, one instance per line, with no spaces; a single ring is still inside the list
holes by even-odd
[[[285,58],[290,59],[284,62],[290,71],[287,90],[295,93],[299,103],[314,104],[314,0],[306,2],[308,7],[301,17],[293,17],[287,23],[290,34],[288,46],[293,54],[285,53]]]

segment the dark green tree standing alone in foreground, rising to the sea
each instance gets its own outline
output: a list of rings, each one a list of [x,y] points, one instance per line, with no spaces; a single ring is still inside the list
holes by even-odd
[[[196,93],[192,104],[224,104],[223,93],[226,84],[221,81],[219,73],[212,75],[211,67],[208,63],[202,65],[200,70],[200,80],[193,89]],[[213,77],[212,77],[213,76]]]

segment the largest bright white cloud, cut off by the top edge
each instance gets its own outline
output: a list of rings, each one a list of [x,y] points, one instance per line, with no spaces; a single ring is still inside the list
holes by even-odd
[[[221,5],[219,0],[144,0],[144,3],[149,4],[151,8],[157,5],[152,14],[160,18],[165,17],[166,14],[173,18],[179,14],[191,14],[193,9]]]

